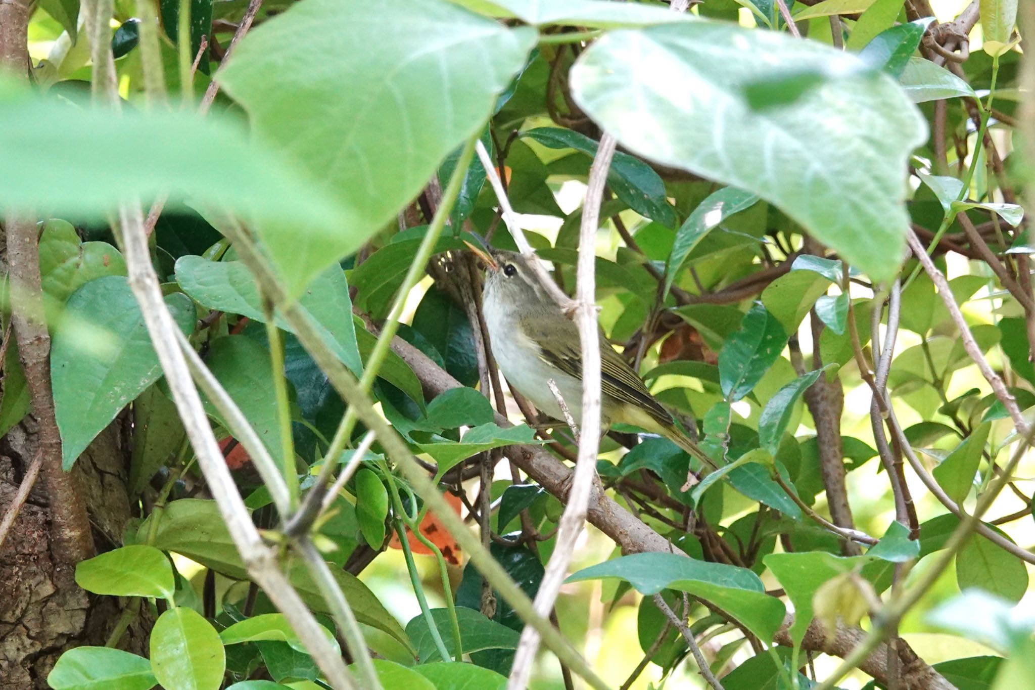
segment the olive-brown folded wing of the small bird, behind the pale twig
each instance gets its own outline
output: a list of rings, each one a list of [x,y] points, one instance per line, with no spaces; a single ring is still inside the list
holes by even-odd
[[[571,346],[565,347],[560,352],[548,352],[539,349],[539,357],[546,364],[556,366],[564,373],[582,381],[582,350],[579,346],[579,329],[575,325],[564,319],[567,324],[564,330],[570,329],[570,337],[565,338]],[[538,342],[536,337],[536,321],[533,319],[522,320],[522,330],[524,330],[533,341]],[[656,419],[660,424],[669,426],[672,424],[672,416],[654,399],[644,386],[637,372],[632,370],[622,356],[615,352],[611,343],[600,333],[600,392],[605,397],[611,397],[622,402],[640,406]]]

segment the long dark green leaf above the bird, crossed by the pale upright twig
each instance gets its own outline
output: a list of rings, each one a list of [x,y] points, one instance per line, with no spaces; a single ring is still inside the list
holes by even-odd
[[[537,127],[524,136],[552,149],[574,149],[590,158],[596,155],[597,142],[571,129]],[[664,182],[644,161],[617,151],[608,169],[608,184],[619,200],[640,215],[666,228],[676,227],[676,212],[667,199]]]

